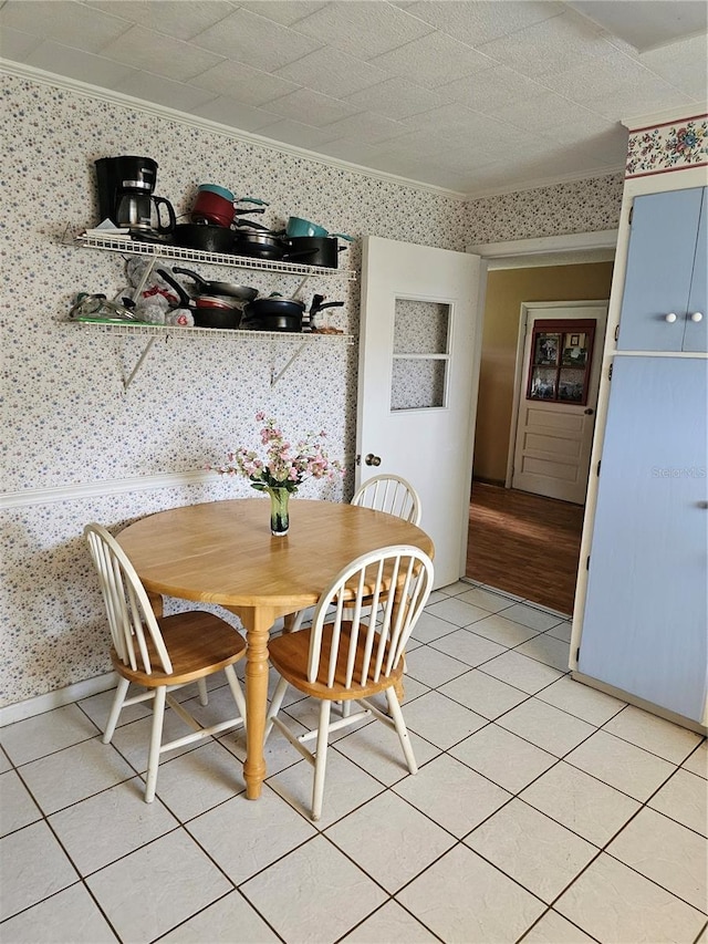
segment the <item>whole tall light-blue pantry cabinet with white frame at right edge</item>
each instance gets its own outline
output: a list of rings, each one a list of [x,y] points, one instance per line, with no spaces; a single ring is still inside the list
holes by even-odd
[[[705,183],[698,175],[625,185],[571,667],[580,681],[700,729],[708,724],[708,188],[689,186]],[[673,189],[659,191],[667,178]]]

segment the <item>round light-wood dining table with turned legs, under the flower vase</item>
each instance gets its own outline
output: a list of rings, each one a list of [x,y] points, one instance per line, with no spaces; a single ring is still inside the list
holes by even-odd
[[[433,556],[420,528],[383,511],[294,498],[290,531],[270,532],[268,498],[173,508],[129,525],[117,540],[145,589],[218,603],[246,629],[246,795],[260,796],[266,777],[268,636],[279,616],[312,606],[360,554],[387,544],[415,544]]]

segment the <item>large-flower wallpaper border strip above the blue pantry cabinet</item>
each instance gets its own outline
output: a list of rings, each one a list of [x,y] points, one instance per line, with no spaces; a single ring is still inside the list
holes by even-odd
[[[627,177],[644,177],[708,164],[708,122],[704,115],[639,128],[629,134]]]

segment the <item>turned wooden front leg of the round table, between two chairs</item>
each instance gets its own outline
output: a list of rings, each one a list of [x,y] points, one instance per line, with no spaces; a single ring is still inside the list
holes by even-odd
[[[233,608],[246,629],[246,796],[257,800],[266,779],[263,735],[268,708],[268,636],[279,615],[269,608]]]

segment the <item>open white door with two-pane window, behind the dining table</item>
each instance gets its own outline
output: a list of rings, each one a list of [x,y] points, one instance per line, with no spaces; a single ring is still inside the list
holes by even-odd
[[[415,487],[436,587],[465,573],[480,269],[466,252],[364,240],[356,485],[392,473]]]

